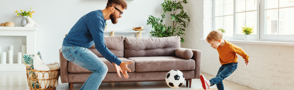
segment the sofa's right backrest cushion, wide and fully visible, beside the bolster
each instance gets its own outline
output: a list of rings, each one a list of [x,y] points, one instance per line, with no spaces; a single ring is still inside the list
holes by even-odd
[[[125,38],[124,57],[175,56],[180,36],[163,38]]]

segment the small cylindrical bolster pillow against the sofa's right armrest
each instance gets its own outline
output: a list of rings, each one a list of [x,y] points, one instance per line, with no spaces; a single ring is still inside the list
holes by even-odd
[[[191,49],[177,48],[176,56],[184,58],[184,59],[191,59],[193,57],[193,52]]]

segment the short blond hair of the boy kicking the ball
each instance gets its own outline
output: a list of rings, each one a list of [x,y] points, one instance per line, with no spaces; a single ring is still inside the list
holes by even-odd
[[[220,30],[212,30],[206,37],[206,42],[210,42],[212,40],[219,40],[219,39],[223,39],[223,33]]]

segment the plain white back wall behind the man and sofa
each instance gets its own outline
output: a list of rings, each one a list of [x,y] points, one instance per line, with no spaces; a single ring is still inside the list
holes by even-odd
[[[146,33],[142,33],[142,38],[149,38],[152,29],[151,25],[146,25],[148,16],[161,17],[163,9],[160,6],[163,0],[126,0],[128,9],[124,10],[122,18],[117,24],[112,24],[107,20],[107,30],[132,30],[133,27],[144,26]],[[0,23],[14,22],[15,26],[20,26],[21,16],[16,16],[14,11],[20,9],[35,11],[32,19],[39,23],[41,27],[37,31],[37,51],[41,52],[44,63],[59,62],[59,49],[61,48],[64,35],[74,26],[76,21],[83,15],[105,9],[107,0],[6,0],[0,3]],[[110,33],[105,33],[105,36]],[[136,33],[115,33],[115,36],[136,37]],[[13,45],[14,38],[10,42],[5,42],[5,38],[0,37],[0,46]],[[25,41],[24,41],[25,42]],[[18,46],[14,46],[18,47]],[[4,51],[2,47],[1,52]],[[16,60],[16,59],[15,59]]]

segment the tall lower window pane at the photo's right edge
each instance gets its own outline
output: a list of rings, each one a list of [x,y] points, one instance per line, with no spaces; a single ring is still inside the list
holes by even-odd
[[[294,35],[293,11],[294,8],[280,9],[279,35]]]

